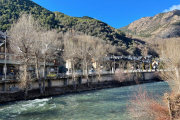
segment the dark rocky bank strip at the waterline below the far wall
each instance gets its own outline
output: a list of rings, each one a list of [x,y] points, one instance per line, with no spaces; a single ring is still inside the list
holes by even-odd
[[[112,87],[122,87],[122,86],[130,86],[136,84],[143,84],[143,83],[150,83],[156,82],[160,80],[148,80],[148,81],[136,81],[131,82],[118,82],[118,81],[105,81],[101,82],[101,84],[90,84],[88,87],[87,84],[78,84],[76,85],[76,90],[73,90],[73,86],[63,86],[63,87],[46,87],[46,91],[43,94],[40,94],[39,89],[29,90],[28,96],[24,97],[23,91],[18,92],[8,92],[8,93],[0,93],[0,103],[3,102],[10,102],[10,101],[19,101],[19,100],[30,100],[36,98],[43,98],[48,96],[54,95],[63,95],[63,94],[70,94],[70,93],[79,93],[83,91],[90,91],[90,90],[98,90],[98,89],[105,89],[105,88],[112,88]]]

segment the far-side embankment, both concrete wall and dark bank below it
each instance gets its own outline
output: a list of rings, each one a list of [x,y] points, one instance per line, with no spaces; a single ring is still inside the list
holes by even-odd
[[[114,73],[104,72],[101,74],[101,81],[98,82],[98,74],[90,74],[89,86],[87,84],[86,76],[83,74],[77,74],[75,78],[76,89],[73,86],[73,80],[71,75],[59,76],[57,78],[46,78],[45,80],[45,91],[40,93],[38,81],[32,81],[29,85],[28,96],[25,96],[24,91],[19,87],[20,81],[5,80],[0,81],[0,103],[18,100],[29,100],[36,98],[43,98],[54,95],[64,95],[70,93],[79,93],[83,91],[91,91],[105,88],[122,87],[137,85],[143,83],[150,83],[159,81],[157,79],[157,72],[151,70],[144,71],[124,71],[126,74],[131,74],[132,77],[126,81],[119,82],[114,79]],[[141,75],[141,78],[136,81],[134,73]]]

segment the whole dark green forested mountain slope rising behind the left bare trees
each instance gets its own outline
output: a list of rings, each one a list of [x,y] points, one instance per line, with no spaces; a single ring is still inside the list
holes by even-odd
[[[100,20],[88,16],[70,17],[61,12],[51,12],[31,0],[0,0],[0,30],[8,30],[21,13],[31,13],[44,27],[55,28],[58,31],[80,31],[124,48],[128,48],[131,42],[125,37],[124,32]]]

